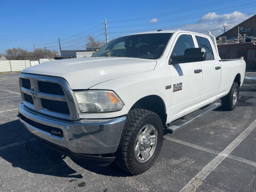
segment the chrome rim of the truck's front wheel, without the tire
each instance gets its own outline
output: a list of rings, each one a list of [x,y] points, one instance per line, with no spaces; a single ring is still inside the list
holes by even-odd
[[[144,125],[137,135],[134,154],[140,163],[148,161],[154,154],[157,144],[157,131],[153,125]]]

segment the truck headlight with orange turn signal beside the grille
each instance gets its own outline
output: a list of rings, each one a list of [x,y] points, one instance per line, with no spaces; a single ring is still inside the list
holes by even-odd
[[[86,90],[75,91],[81,113],[100,113],[121,110],[124,103],[113,91]]]

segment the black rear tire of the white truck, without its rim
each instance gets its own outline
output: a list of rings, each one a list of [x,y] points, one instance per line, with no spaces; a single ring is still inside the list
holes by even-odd
[[[237,100],[236,100],[236,103],[233,104],[233,94],[235,91],[237,91]],[[221,98],[221,105],[226,110],[234,110],[237,106],[238,98],[239,98],[239,85],[238,83],[234,82],[231,86],[229,93],[225,97]]]

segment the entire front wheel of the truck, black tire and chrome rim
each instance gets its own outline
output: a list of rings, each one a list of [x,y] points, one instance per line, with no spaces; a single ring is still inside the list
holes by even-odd
[[[115,164],[130,174],[147,171],[163,143],[163,123],[153,111],[132,109],[127,114]]]

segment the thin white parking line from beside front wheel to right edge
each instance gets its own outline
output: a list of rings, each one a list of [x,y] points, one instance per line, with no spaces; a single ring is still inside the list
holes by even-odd
[[[250,160],[247,160],[247,159],[244,159],[244,158],[241,158],[241,157],[237,157],[237,156],[234,156],[234,155],[222,154],[222,153],[220,153],[220,151],[217,151],[217,150],[208,149],[208,148],[205,148],[205,147],[195,145],[193,143],[189,143],[189,142],[186,142],[186,141],[181,141],[179,139],[174,139],[174,138],[170,138],[170,137],[167,137],[167,136],[164,136],[164,139],[167,139],[167,140],[170,140],[170,141],[173,141],[173,142],[177,142],[177,143],[180,143],[182,145],[189,146],[189,147],[193,147],[195,149],[203,150],[203,151],[206,151],[208,153],[215,154],[215,155],[226,156],[226,157],[234,159],[236,161],[243,162],[243,163],[246,163],[246,164],[249,164],[249,165],[252,165],[252,166],[256,167],[256,162],[252,162]]]

